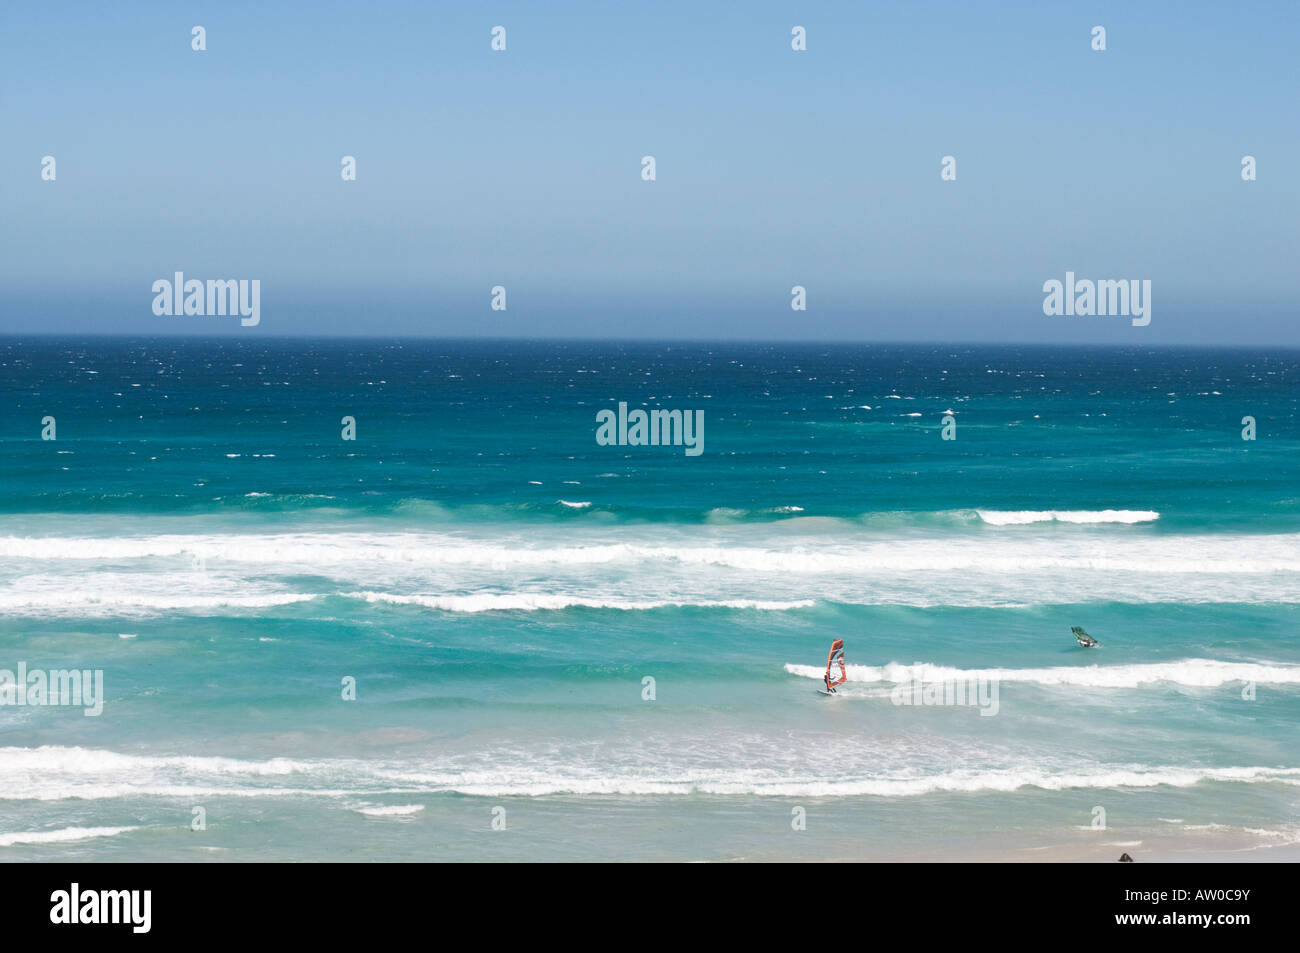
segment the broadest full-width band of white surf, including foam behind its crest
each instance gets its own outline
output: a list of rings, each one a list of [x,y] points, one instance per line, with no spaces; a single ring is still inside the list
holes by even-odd
[[[941,536],[806,516],[616,529],[580,520],[526,533],[9,536],[0,537],[0,614],[263,608],[339,590],[416,593],[451,611],[493,599],[521,610],[566,599],[615,608],[1300,603],[1300,533],[1061,530],[1069,511],[1031,515],[1044,512],[1052,523]],[[298,592],[304,580],[315,592]]]

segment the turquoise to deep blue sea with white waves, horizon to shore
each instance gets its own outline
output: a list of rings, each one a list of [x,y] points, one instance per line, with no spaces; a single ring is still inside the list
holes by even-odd
[[[1296,352],[51,338],[0,367],[0,668],[105,693],[0,706],[3,859],[1300,841]],[[702,410],[703,454],[598,446],[619,402]],[[996,714],[896,703],[915,680]]]

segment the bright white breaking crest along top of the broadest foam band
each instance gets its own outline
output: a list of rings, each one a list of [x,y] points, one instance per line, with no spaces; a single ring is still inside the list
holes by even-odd
[[[978,571],[1027,573],[1044,569],[1105,569],[1110,573],[1260,575],[1300,573],[1300,533],[1170,534],[1161,537],[1082,537],[1050,533],[1022,537],[953,536],[883,538],[852,533],[790,537],[763,525],[718,527],[685,533],[675,545],[655,541],[612,542],[601,536],[566,533],[550,545],[504,534],[474,540],[441,533],[295,533],[260,536],[156,537],[0,537],[0,559],[124,560],[202,558],[222,564],[329,567],[389,566],[532,568],[638,563],[718,566],[772,573],[910,573]],[[647,530],[649,532],[649,530]],[[627,538],[627,532],[620,532]]]

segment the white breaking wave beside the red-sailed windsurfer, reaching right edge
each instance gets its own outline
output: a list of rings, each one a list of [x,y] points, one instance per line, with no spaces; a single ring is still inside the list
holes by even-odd
[[[826,667],[788,663],[785,671],[820,681]],[[1083,688],[1138,688],[1157,681],[1214,688],[1231,681],[1265,685],[1300,684],[1300,666],[1264,662],[1219,662],[1208,658],[1180,662],[1150,662],[1132,666],[1058,666],[1056,668],[950,668],[928,662],[885,666],[846,666],[853,683],[910,681],[1032,681],[1040,685],[1079,685]]]

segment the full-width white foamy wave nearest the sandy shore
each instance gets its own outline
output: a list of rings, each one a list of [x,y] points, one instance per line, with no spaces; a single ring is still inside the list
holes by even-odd
[[[382,762],[356,759],[270,762],[185,755],[126,755],[82,748],[4,748],[6,766],[0,800],[57,801],[124,797],[325,797],[459,793],[480,797],[554,794],[637,796],[718,794],[764,797],[915,797],[931,793],[1013,792],[1022,788],[1153,788],[1196,784],[1300,785],[1300,768],[1202,767],[1145,764],[1071,764],[1060,770],[1039,764],[996,768],[953,768],[935,772],[888,771],[880,776],[828,774],[794,766],[759,768],[656,764],[655,774],[628,767],[566,763],[508,763],[497,753],[484,763]],[[294,787],[282,781],[291,780]],[[268,784],[272,781],[272,784]],[[413,813],[420,805],[394,807],[363,802],[376,816]],[[367,810],[368,809],[368,810]],[[74,828],[75,829],[75,828]],[[127,828],[81,828],[121,832]],[[34,835],[8,835],[27,837]],[[72,839],[72,835],[65,835]]]

